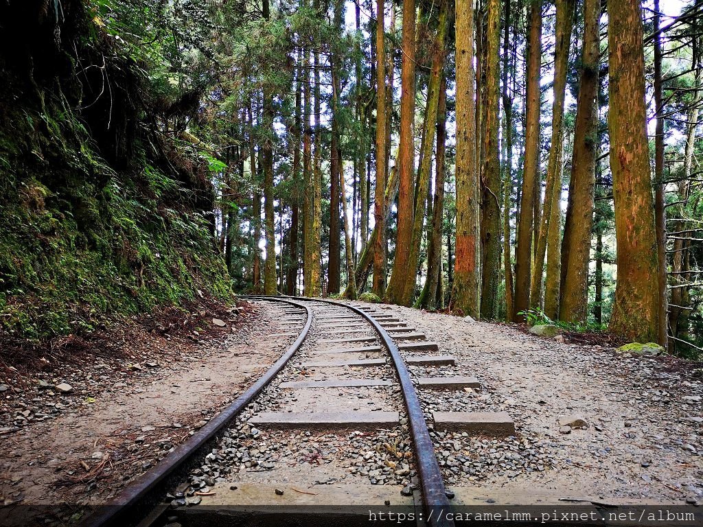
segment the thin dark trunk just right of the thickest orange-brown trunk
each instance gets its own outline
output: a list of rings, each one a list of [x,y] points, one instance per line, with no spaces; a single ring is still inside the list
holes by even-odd
[[[657,341],[669,349],[669,301],[666,294],[666,198],[664,197],[664,104],[662,101],[662,34],[659,32],[659,0],[654,0],[654,106],[657,117],[654,132],[654,227],[659,259],[659,304]]]

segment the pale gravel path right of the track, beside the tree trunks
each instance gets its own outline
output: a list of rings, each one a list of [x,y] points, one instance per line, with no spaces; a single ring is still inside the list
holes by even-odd
[[[437,341],[482,391],[436,392],[435,409],[506,411],[518,437],[438,434],[449,484],[703,502],[703,372],[673,358],[630,358],[559,344],[517,327],[387,306]],[[443,375],[442,368],[411,368]],[[444,375],[456,375],[446,368]],[[450,371],[451,370],[451,371]],[[587,429],[560,432],[564,417]]]

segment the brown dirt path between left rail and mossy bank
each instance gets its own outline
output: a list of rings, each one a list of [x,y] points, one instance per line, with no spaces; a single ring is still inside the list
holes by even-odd
[[[82,379],[65,375],[70,393],[41,386],[13,393],[15,408],[39,417],[0,436],[0,520],[13,509],[21,517],[27,505],[56,512],[115,495],[233,401],[285,349],[285,339],[266,338],[279,327],[266,309],[222,323],[221,336],[209,341],[160,342],[136,375],[134,367],[125,372],[98,360],[81,368]],[[99,379],[101,389],[91,389],[91,379]],[[57,404],[63,412],[41,420],[45,405]]]

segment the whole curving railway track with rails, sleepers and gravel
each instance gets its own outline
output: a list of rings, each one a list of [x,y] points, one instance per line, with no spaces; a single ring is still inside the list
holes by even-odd
[[[354,512],[361,523],[361,511],[377,507],[404,511],[411,523],[452,526],[440,514],[451,511],[453,494],[444,487],[432,435],[441,428],[484,431],[486,415],[428,415],[417,389],[476,387],[476,379],[411,378],[408,365],[453,365],[453,358],[383,309],[249,298],[276,312],[281,329],[271,338],[288,345],[285,353],[84,524],[186,527],[223,517],[227,525],[297,524],[295,507],[307,525],[310,507],[328,524],[340,506],[363,505]],[[501,426],[512,429],[512,422]],[[240,523],[230,523],[235,512]]]

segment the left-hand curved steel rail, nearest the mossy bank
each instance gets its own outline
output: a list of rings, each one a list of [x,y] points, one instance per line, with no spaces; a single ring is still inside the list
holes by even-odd
[[[157,486],[160,483],[165,483],[171,476],[174,476],[176,472],[185,466],[189,458],[191,458],[195,453],[200,450],[203,446],[207,445],[216,434],[221,431],[224,427],[231,422],[236,415],[243,410],[259,393],[273,380],[273,377],[278,375],[280,370],[288,363],[288,360],[293,356],[304,340],[312,325],[312,311],[311,309],[304,305],[299,304],[297,301],[276,298],[276,297],[262,297],[265,300],[273,300],[285,302],[286,304],[291,304],[302,308],[307,313],[307,320],[302,332],[300,332],[298,338],[291,344],[288,350],[283,353],[282,356],[276,363],[273,363],[269,370],[264,373],[262,377],[257,380],[252,386],[250,386],[247,391],[242,393],[236,401],[234,401],[227,408],[222,410],[217,416],[207,422],[207,424],[198,430],[191,438],[187,441],[181,443],[176,450],[171,453],[171,455],[165,457],[161,462],[159,462],[153,469],[143,474],[134,483],[127,486],[122,490],[122,493],[112,500],[110,505],[101,506],[100,509],[82,523],[86,527],[108,527],[108,526],[124,526],[127,525],[127,519],[134,518],[134,509],[139,509],[141,507],[148,507],[144,502],[146,502],[150,496],[153,495]],[[153,505],[153,504],[152,504]],[[148,512],[146,509],[145,512]],[[119,523],[118,523],[119,522]]]

